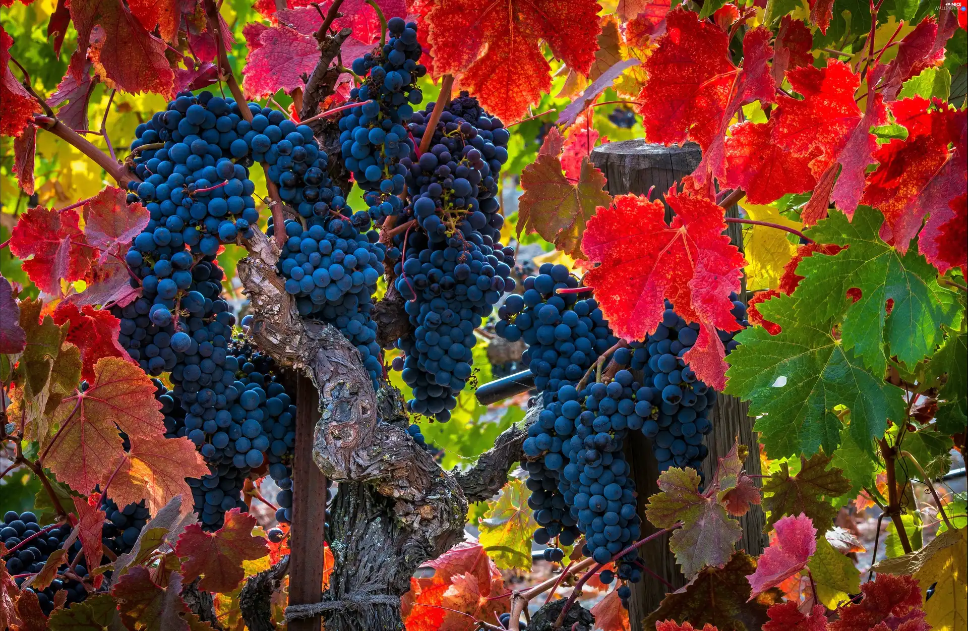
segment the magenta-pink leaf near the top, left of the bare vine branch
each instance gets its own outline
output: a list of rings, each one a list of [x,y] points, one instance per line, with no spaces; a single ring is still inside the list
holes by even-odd
[[[247,38],[249,34],[246,34]],[[260,99],[284,90],[292,92],[306,83],[319,61],[318,42],[288,26],[274,26],[258,34],[242,70],[242,87],[250,99]]]

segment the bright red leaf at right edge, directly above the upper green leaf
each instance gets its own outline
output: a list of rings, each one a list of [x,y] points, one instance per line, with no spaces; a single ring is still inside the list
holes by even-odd
[[[929,107],[921,97],[891,104],[894,120],[907,128],[908,137],[893,139],[874,153],[880,165],[867,176],[861,198],[884,213],[881,238],[901,253],[907,252],[926,213],[947,209],[965,191],[964,158],[956,164],[948,149],[964,135],[964,113],[936,105]]]

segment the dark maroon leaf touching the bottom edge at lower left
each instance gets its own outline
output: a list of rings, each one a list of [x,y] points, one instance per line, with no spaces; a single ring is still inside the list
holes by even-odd
[[[211,625],[199,621],[182,600],[183,581],[178,572],[173,572],[163,588],[151,580],[151,574],[143,565],[131,568],[111,588],[125,627],[129,631],[211,631]]]

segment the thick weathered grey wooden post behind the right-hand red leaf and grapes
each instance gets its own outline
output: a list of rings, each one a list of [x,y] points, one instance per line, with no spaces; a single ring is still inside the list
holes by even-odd
[[[664,199],[666,192],[682,177],[695,170],[702,159],[699,145],[687,143],[682,147],[666,147],[661,144],[649,144],[645,140],[624,140],[610,142],[595,147],[591,152],[591,162],[605,174],[608,180],[610,195],[624,195],[634,193],[649,195],[650,199]],[[666,221],[672,220],[672,210],[666,206]],[[733,206],[727,211],[727,216],[737,217],[737,208]],[[741,226],[730,224],[727,230],[730,240],[742,249]],[[745,293],[743,291],[743,293]],[[743,296],[744,298],[745,296]],[[747,472],[757,475],[760,473],[759,444],[753,436],[753,419],[747,415],[748,406],[735,397],[720,394],[712,413],[712,432],[706,437],[706,445],[710,455],[703,464],[703,471],[707,480],[711,479],[712,471],[718,459],[725,456],[733,446],[736,436],[749,447],[749,457],[745,466]],[[658,478],[658,464],[652,456],[650,440],[641,432],[630,433],[625,456],[632,468],[632,476],[638,491],[639,516],[642,518],[642,536],[648,536],[655,528],[646,521],[646,502],[654,493],[658,492],[656,479]],[[740,518],[742,525],[742,539],[738,548],[744,549],[750,555],[763,552],[763,511],[754,507],[744,517]],[[650,570],[668,581],[674,588],[685,585],[676,557],[669,552],[669,537],[661,537],[646,544],[641,549],[645,563]],[[632,629],[640,629],[641,621],[658,608],[665,598],[667,586],[643,573],[643,579],[636,585],[631,585],[632,596],[629,602],[629,620]],[[648,630],[651,631],[651,630]]]

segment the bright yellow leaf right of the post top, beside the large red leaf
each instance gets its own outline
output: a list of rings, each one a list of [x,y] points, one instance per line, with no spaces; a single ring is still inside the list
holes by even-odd
[[[779,210],[772,205],[751,204],[741,200],[740,206],[749,219],[771,224],[787,225],[798,230],[802,228],[800,222],[793,222],[780,215]],[[793,255],[797,254],[797,246],[787,239],[788,232],[778,230],[768,225],[744,225],[742,229],[742,245],[745,248],[746,286],[750,289],[775,289],[779,286],[783,266]]]

